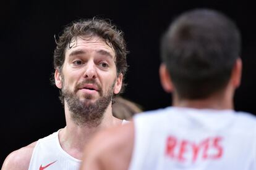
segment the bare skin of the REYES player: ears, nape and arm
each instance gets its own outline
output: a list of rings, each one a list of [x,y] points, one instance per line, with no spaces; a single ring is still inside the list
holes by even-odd
[[[237,59],[226,88],[209,96],[207,99],[187,100],[179,98],[166,65],[162,64],[160,66],[161,84],[166,92],[173,92],[174,107],[233,109],[234,91],[240,84],[241,73],[242,61]],[[129,169],[132,150],[134,149],[134,134],[133,122],[98,133],[85,148],[85,156],[80,170]]]

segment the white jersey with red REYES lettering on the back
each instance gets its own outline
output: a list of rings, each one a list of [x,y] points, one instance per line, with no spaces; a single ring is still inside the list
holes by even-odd
[[[256,169],[256,118],[233,110],[168,107],[134,117],[130,170]]]

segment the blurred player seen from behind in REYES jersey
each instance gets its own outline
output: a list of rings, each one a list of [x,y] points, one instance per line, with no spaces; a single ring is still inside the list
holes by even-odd
[[[160,78],[173,107],[100,132],[81,169],[256,169],[256,119],[234,111],[241,38],[215,10],[190,10],[164,34]]]

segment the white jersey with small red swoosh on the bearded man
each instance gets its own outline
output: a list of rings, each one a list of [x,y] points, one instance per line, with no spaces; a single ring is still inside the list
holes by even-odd
[[[122,124],[128,121],[123,120]],[[39,139],[33,149],[28,170],[77,170],[81,160],[70,156],[59,144],[59,131]]]

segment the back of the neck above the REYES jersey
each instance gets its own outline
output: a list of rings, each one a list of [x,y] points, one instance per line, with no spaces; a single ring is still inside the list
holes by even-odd
[[[204,99],[179,99],[177,94],[173,94],[174,107],[189,107],[189,108],[210,108],[216,110],[234,109],[233,105],[234,91],[224,89],[221,92],[215,93]]]

